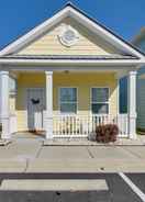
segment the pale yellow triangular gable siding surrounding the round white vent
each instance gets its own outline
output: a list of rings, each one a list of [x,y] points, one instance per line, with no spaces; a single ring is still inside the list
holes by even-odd
[[[65,24],[71,25],[80,35],[79,41],[71,47],[62,45],[58,33]],[[76,54],[77,53],[77,54]],[[71,19],[65,19],[62,23],[53,27],[41,38],[20,50],[19,55],[109,55],[116,54],[118,50],[97,37],[90,31],[82,27]]]

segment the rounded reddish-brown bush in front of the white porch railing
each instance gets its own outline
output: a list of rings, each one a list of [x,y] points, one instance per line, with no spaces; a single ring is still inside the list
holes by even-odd
[[[96,128],[96,139],[99,143],[115,142],[119,134],[119,127],[115,124],[99,125]]]

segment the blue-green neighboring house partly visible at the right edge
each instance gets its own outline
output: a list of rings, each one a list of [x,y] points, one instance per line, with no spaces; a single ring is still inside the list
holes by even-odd
[[[135,36],[132,42],[136,47],[145,53],[145,27]],[[137,74],[137,127],[145,130],[145,67]]]

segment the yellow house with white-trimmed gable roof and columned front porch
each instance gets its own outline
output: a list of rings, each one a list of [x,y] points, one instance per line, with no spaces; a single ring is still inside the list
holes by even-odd
[[[144,64],[138,49],[68,3],[0,52],[2,138],[23,131],[87,137],[104,123],[136,138],[136,70]],[[129,112],[120,114],[125,75]]]

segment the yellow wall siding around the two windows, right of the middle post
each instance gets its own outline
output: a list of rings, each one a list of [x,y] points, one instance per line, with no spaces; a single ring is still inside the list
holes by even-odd
[[[114,74],[55,74],[54,75],[54,111],[58,111],[59,87],[78,88],[78,114],[90,113],[91,87],[110,88],[110,113],[116,114],[116,79]]]

